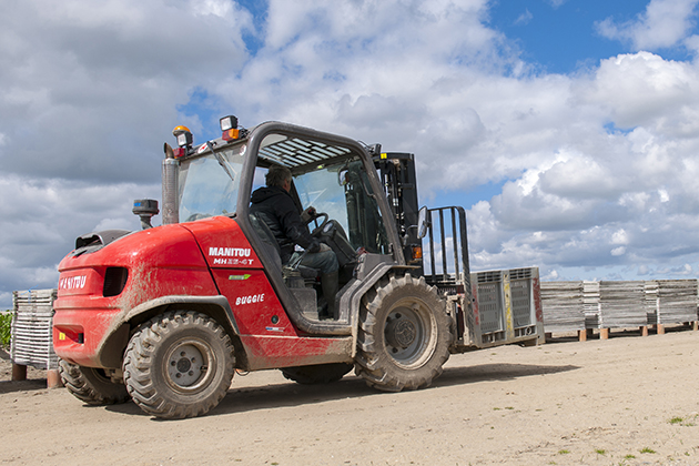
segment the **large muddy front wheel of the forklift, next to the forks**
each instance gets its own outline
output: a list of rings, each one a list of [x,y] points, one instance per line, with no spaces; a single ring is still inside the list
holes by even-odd
[[[425,388],[449,358],[452,320],[424,277],[377,283],[362,298],[355,372],[386,391]]]

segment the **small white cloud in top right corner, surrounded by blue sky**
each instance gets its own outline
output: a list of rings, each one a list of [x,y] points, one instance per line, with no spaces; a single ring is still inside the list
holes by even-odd
[[[635,50],[677,44],[691,29],[697,0],[651,0],[635,20],[618,24],[612,18],[596,23],[599,34],[628,42]]]

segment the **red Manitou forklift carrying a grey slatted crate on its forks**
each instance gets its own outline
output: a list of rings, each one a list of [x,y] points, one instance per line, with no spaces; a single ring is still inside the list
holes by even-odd
[[[538,270],[470,274],[464,209],[418,209],[412,154],[235,116],[221,133],[194,145],[178,126],[178,148],[165,144],[162,226],[156,201],[135,201],[144,230],[82,235],[61,261],[53,342],[81,401],[197,416],[236,369],[271,368],[302,384],[354,368],[398,392],[427,387],[450,353],[543,343]],[[303,251],[283,264],[251,214],[273,165],[291,170],[300,212],[315,207],[310,231],[341,267],[335,296]],[[321,318],[328,300],[336,312]]]

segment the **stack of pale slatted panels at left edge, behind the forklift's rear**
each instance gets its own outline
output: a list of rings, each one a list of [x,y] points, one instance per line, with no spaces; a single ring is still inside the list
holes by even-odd
[[[14,364],[43,369],[58,367],[52,321],[57,290],[16,291],[10,357]]]

